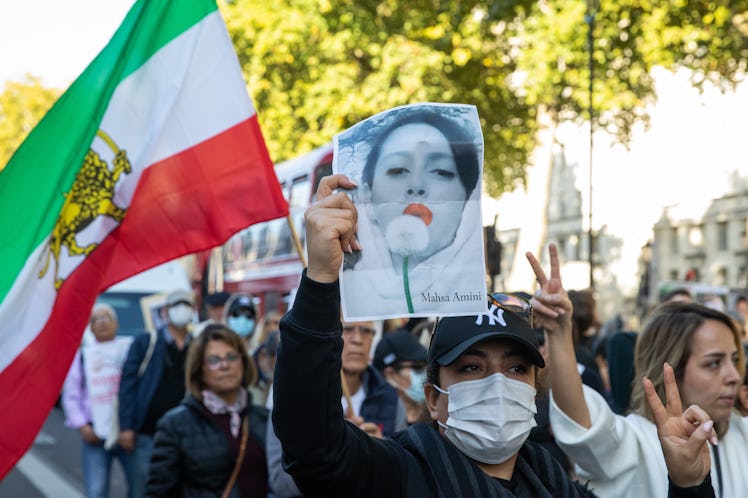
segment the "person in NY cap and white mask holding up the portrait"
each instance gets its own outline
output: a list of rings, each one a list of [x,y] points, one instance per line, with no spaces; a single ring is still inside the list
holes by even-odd
[[[534,425],[535,378],[545,362],[528,321],[498,302],[492,301],[485,314],[437,322],[426,361],[429,422],[390,439],[369,437],[345,422],[338,405],[344,341],[338,272],[343,252],[361,246],[355,206],[336,191],[354,186],[344,175],[320,182],[317,201],[305,213],[309,266],[280,326],[273,425],[284,467],[304,496],[594,496],[527,441]],[[535,326],[551,333],[570,329],[571,305],[555,247],[551,277],[543,275],[542,282],[544,305],[533,312]],[[525,311],[529,318],[530,310]],[[577,381],[581,386],[578,375]],[[680,420],[665,417],[670,418]],[[669,454],[673,461],[686,461],[682,452]],[[698,473],[686,472],[697,478]],[[685,482],[680,474],[675,477],[676,484]]]

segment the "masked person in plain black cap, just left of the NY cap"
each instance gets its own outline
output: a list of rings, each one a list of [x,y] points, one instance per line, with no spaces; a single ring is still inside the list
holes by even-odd
[[[405,329],[382,336],[374,351],[373,365],[397,390],[405,406],[408,425],[428,418],[423,384],[426,381],[426,348]]]

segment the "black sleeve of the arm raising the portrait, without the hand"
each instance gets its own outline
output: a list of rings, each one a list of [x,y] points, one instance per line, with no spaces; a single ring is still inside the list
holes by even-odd
[[[402,447],[343,418],[339,310],[338,283],[304,273],[281,320],[272,416],[284,468],[309,498],[405,496]]]

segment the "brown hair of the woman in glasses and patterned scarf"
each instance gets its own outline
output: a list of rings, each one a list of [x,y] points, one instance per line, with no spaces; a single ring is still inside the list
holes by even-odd
[[[202,391],[206,388],[203,381],[203,361],[205,350],[210,341],[221,341],[233,348],[242,359],[242,387],[245,389],[257,381],[257,367],[247,353],[247,345],[239,334],[220,323],[206,326],[187,350],[184,366],[184,382],[187,391],[202,401]]]

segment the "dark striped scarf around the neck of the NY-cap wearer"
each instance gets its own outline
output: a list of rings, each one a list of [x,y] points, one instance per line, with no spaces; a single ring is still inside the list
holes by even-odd
[[[439,498],[594,496],[585,486],[572,482],[553,457],[532,442],[526,442],[519,451],[512,477],[516,489],[512,492],[447,442],[431,424],[415,424],[394,439],[419,459],[435,488],[432,494]]]

